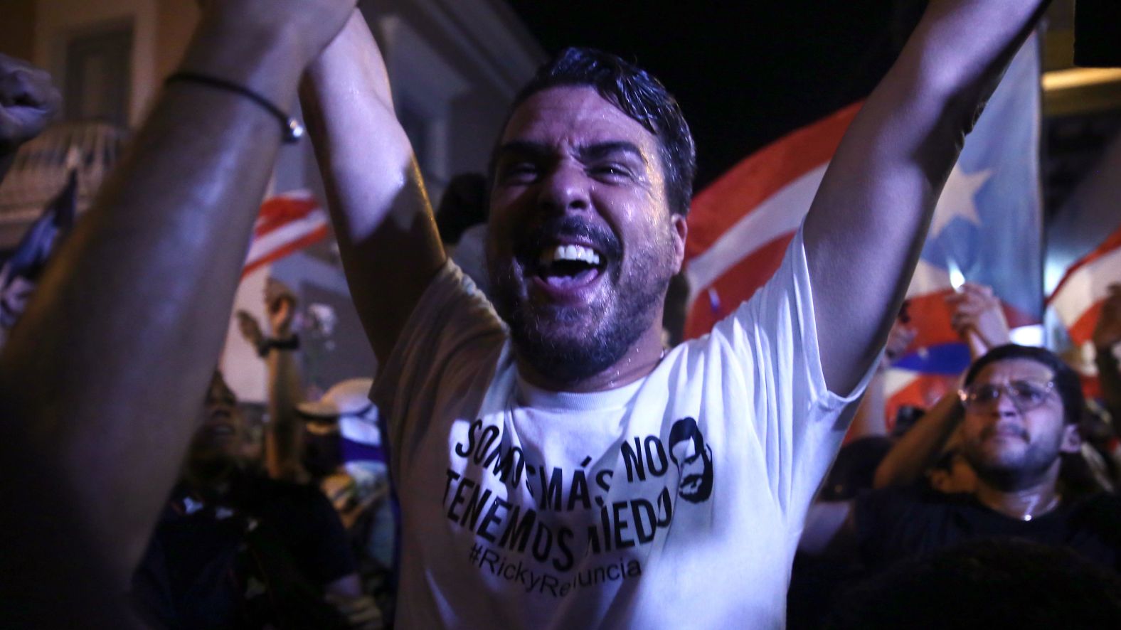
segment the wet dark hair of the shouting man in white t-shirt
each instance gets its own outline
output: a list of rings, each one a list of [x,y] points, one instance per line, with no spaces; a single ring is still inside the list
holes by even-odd
[[[537,68],[537,74],[515,96],[507,114],[534,94],[550,87],[587,86],[658,138],[666,198],[670,212],[686,215],[693,200],[696,147],[682,108],[666,87],[638,66],[593,48],[565,48]],[[494,159],[491,158],[491,182]]]

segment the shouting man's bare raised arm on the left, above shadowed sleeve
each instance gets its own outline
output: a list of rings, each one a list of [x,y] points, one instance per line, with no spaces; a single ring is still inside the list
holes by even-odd
[[[351,295],[385,361],[445,257],[381,52],[359,11],[308,68],[300,104]]]

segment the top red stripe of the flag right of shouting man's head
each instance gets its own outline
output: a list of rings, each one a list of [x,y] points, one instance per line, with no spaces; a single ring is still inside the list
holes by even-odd
[[[686,259],[700,256],[721,234],[787,184],[828,161],[861,103],[854,103],[751,154],[693,200]]]

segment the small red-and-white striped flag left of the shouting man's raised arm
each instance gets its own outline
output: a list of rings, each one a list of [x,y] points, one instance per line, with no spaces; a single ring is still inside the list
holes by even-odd
[[[326,237],[327,213],[309,191],[269,197],[261,204],[253,225],[253,240],[241,277]]]

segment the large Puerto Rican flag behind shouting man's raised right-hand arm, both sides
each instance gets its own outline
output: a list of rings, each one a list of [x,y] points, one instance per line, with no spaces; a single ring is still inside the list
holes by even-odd
[[[686,336],[706,333],[775,272],[859,106],[789,133],[697,194],[686,247]],[[1040,321],[1039,111],[1032,37],[989,100],[938,200],[907,293],[918,334],[887,378],[889,418],[901,405],[929,406],[969,365],[945,304],[963,281],[992,286],[1011,326]]]

